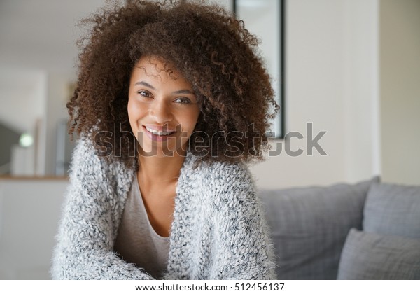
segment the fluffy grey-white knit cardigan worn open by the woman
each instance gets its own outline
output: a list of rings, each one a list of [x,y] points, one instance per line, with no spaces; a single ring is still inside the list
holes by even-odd
[[[244,165],[186,157],[163,279],[275,279],[267,224]],[[80,139],[52,258],[53,279],[153,279],[113,251],[134,169]]]

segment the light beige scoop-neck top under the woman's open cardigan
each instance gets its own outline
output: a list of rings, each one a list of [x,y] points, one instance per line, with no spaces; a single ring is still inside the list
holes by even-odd
[[[169,237],[162,237],[153,229],[136,176],[125,203],[114,250],[125,261],[143,268],[155,279],[162,278],[167,267]]]

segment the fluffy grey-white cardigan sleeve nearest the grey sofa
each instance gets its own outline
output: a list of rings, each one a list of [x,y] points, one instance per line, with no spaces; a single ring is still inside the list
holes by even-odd
[[[248,169],[223,165],[214,181],[218,279],[276,279],[272,243]]]

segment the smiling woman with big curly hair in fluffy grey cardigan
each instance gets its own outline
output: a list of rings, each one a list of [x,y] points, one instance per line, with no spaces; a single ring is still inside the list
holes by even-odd
[[[223,9],[185,1],[91,21],[52,277],[274,279],[244,165],[261,159],[277,107],[258,42]]]

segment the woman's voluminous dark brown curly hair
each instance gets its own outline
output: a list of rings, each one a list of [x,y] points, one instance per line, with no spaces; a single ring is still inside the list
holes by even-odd
[[[102,155],[131,165],[138,156],[130,153],[137,141],[115,143],[132,134],[130,76],[141,57],[158,56],[193,85],[200,101],[189,141],[200,162],[262,159],[268,119],[279,106],[258,55],[258,40],[244,22],[200,2],[127,2],[83,20],[92,27],[79,43],[78,83],[67,104],[70,133],[93,134],[90,139],[102,147],[95,135],[110,134],[114,143]]]

